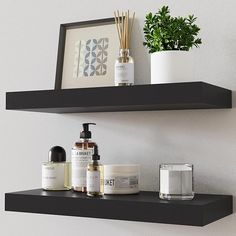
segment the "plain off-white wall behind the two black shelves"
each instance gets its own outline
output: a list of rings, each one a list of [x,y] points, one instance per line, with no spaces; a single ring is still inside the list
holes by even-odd
[[[236,234],[235,214],[198,228],[4,212],[4,193],[40,187],[41,162],[47,159],[48,149],[62,145],[69,153],[85,121],[97,123],[94,139],[104,163],[142,165],[144,190],[157,188],[157,163],[190,162],[195,166],[197,192],[236,195],[235,108],[66,115],[5,111],[6,91],[53,88],[60,23],[111,17],[116,9],[136,11],[135,79],[138,84],[149,83],[143,21],[147,12],[163,4],[176,15],[195,13],[199,18],[203,45],[195,51],[195,78],[235,90],[233,0],[0,2],[0,235]]]

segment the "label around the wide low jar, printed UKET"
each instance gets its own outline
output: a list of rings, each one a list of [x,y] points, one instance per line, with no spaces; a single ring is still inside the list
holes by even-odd
[[[115,189],[135,189],[138,188],[138,176],[106,176],[104,179],[104,188],[115,190]]]

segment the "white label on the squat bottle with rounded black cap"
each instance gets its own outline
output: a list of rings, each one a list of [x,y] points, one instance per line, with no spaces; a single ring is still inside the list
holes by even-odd
[[[63,189],[65,184],[65,165],[42,165],[42,188]]]

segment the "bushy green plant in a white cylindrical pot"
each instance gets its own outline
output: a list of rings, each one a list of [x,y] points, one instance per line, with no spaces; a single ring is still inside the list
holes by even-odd
[[[202,43],[196,17],[172,17],[169,7],[148,13],[144,25],[144,46],[151,53],[151,83],[192,80],[193,59],[189,52]]]

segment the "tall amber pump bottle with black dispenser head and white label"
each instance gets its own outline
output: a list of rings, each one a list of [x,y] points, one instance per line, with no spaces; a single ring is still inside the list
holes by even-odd
[[[86,192],[86,170],[91,161],[93,148],[96,145],[91,141],[92,133],[89,125],[95,123],[83,123],[83,131],[80,132],[80,141],[76,142],[71,152],[72,162],[72,189],[78,192]]]

